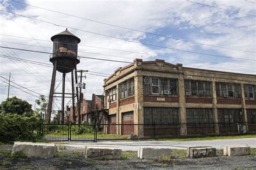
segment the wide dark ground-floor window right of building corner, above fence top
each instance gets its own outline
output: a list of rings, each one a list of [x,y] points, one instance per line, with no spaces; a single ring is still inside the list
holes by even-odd
[[[144,108],[144,124],[177,124],[179,123],[178,108]]]

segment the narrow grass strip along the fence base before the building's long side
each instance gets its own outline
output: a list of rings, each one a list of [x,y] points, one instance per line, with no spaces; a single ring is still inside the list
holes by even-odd
[[[193,137],[193,138],[159,138],[160,141],[197,141],[197,140],[217,140],[217,139],[240,139],[240,138],[256,138],[256,134],[246,134],[238,136],[214,136],[214,137]]]

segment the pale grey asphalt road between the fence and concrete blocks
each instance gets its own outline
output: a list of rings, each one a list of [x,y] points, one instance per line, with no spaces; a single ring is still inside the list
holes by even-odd
[[[221,139],[221,140],[202,140],[202,141],[102,141],[97,143],[88,142],[56,142],[56,144],[65,145],[70,150],[79,150],[85,148],[86,145],[107,145],[119,146],[123,151],[137,151],[139,146],[149,147],[166,147],[186,149],[188,146],[212,146],[221,149],[226,145],[251,146],[256,148],[256,138],[241,138],[241,139]]]

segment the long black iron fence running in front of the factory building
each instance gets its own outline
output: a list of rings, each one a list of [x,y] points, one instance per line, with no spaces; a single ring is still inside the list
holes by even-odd
[[[256,123],[42,124],[48,141],[110,141],[187,138],[256,133]]]

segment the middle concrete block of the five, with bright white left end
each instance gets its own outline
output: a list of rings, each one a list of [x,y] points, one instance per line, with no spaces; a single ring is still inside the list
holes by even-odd
[[[171,157],[171,148],[160,147],[139,147],[138,158],[157,159],[160,157]]]

